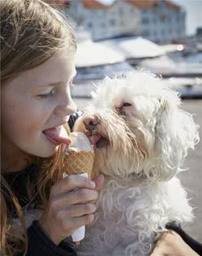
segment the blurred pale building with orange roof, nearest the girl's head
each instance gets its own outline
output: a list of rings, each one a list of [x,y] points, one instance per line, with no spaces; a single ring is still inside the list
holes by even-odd
[[[124,35],[137,35],[140,27],[140,12],[126,1],[115,1],[104,5],[98,1],[71,1],[68,15],[78,26],[88,30],[93,40]]]

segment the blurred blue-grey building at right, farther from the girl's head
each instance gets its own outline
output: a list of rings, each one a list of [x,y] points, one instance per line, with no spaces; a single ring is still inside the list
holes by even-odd
[[[171,1],[131,0],[141,12],[141,36],[166,44],[186,36],[186,12]]]

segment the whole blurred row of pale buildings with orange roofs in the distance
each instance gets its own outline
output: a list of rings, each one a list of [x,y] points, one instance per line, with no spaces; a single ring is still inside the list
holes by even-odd
[[[106,5],[96,0],[69,1],[68,15],[88,30],[93,40],[141,35],[159,44],[186,35],[186,12],[165,0],[115,0]]]

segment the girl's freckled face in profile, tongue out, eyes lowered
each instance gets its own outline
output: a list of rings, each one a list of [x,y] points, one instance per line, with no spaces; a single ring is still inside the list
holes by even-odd
[[[70,86],[75,53],[55,55],[2,86],[2,136],[5,149],[52,156],[62,141],[61,125],[76,110]]]

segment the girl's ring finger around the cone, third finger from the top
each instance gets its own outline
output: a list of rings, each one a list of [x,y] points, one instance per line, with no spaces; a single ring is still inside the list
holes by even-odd
[[[96,212],[96,205],[85,203],[81,205],[70,205],[61,211],[61,215],[65,217],[80,217]]]

